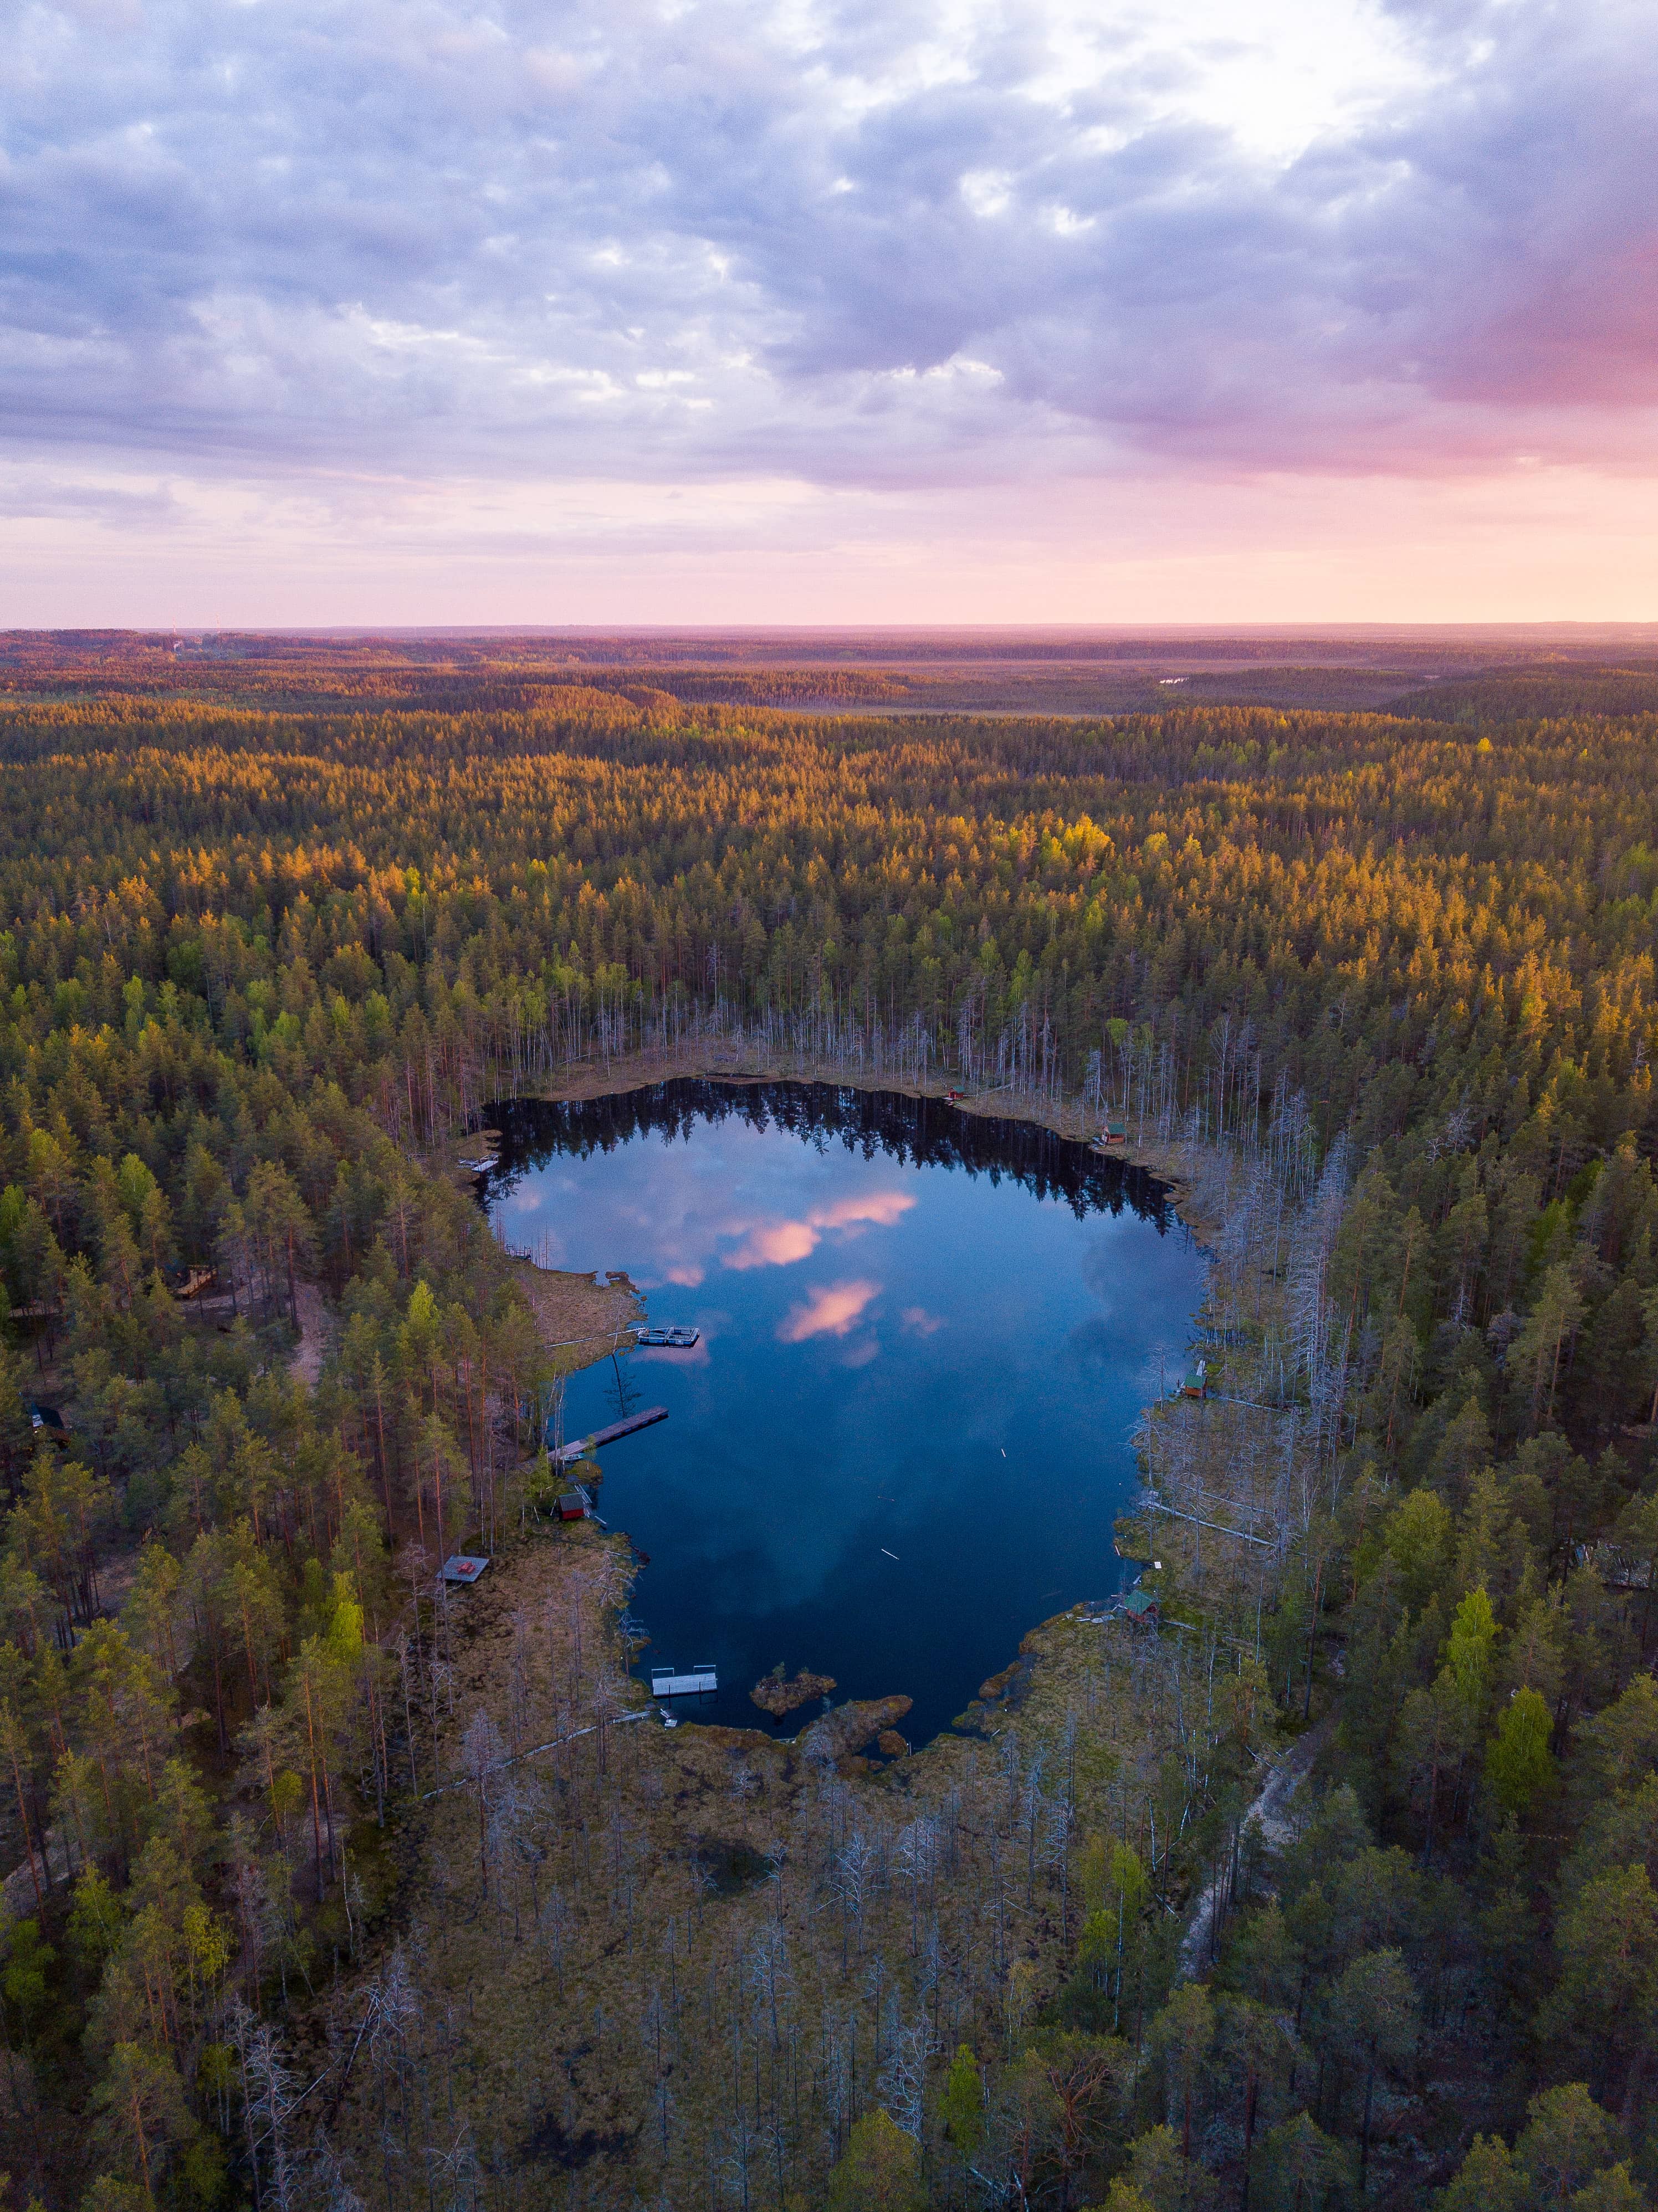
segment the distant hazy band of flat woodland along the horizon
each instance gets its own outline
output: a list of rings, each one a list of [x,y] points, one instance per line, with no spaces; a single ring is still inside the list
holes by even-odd
[[[1607,666],[1609,648],[1627,657]],[[1649,712],[1654,633],[1372,628],[1353,637],[1109,630],[0,630],[0,697],[279,708],[549,710],[571,686],[695,706],[1125,714],[1182,701],[1428,719]],[[1457,686],[1450,699],[1434,697]],[[1470,690],[1472,686],[1472,690]]]

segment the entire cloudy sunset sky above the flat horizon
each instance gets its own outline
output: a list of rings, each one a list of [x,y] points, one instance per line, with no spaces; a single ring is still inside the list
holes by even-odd
[[[1658,619],[1651,0],[0,0],[0,626]]]

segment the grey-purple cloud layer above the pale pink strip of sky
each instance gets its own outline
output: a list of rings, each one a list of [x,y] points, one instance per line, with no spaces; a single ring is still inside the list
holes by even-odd
[[[4,422],[418,476],[1649,458],[1643,15],[1401,7],[1415,88],[1271,164],[1040,0],[27,7]]]

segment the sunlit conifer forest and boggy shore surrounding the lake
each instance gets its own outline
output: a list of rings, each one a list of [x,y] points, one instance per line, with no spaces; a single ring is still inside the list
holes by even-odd
[[[1647,2205],[1651,679],[905,721],[135,657],[0,701],[0,2203]],[[452,1170],[733,1051],[1122,1117],[1215,1252],[1162,1626],[1032,1624],[894,1765],[624,1725],[626,1555],[538,1533],[558,1358]],[[469,1628],[460,1542],[540,1595]]]

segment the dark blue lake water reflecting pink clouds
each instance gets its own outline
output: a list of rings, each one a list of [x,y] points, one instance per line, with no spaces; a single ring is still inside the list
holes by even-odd
[[[547,1265],[624,1270],[695,1352],[569,1383],[649,1553],[651,1666],[715,1661],[684,1719],[766,1728],[779,1659],[903,1692],[925,1741],[1036,1621],[1122,1584],[1129,1429],[1180,1371],[1202,1256],[1133,1168],[1014,1121],[821,1084],[671,1082],[496,1110],[489,1212]],[[821,1708],[786,1723],[795,1732]]]

